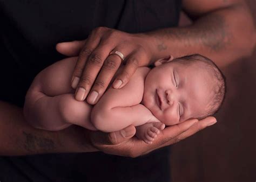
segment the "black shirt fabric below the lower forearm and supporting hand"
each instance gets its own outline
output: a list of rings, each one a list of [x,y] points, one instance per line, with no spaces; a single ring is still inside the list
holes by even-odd
[[[102,152],[0,158],[1,181],[170,181],[170,149],[128,158]],[[16,180],[19,179],[19,180]]]

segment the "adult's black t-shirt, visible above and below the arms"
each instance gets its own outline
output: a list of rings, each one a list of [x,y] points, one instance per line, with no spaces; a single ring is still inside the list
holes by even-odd
[[[22,107],[31,81],[93,28],[137,33],[178,25],[180,1],[1,0],[0,100]],[[170,181],[169,148],[135,159],[102,152],[0,158],[0,181]]]

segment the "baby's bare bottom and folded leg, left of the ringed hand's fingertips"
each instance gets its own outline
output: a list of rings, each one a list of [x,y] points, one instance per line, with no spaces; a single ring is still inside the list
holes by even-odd
[[[77,58],[68,58],[45,68],[33,80],[24,104],[24,116],[33,127],[60,130],[70,124],[96,130],[90,123],[92,106],[76,101],[70,86]]]

